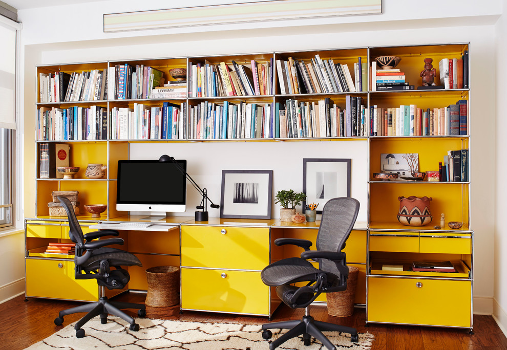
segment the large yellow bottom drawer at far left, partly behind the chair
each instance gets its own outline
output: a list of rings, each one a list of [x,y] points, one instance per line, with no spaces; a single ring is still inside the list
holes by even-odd
[[[27,296],[98,300],[95,279],[74,279],[74,261],[26,259]]]

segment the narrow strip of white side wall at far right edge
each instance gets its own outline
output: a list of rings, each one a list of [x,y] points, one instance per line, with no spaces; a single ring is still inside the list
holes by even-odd
[[[507,1],[503,0],[504,11],[507,9]],[[507,18],[503,15],[498,21],[496,27],[496,62],[495,74],[498,77],[495,82],[495,106],[497,110],[496,124],[491,125],[495,130],[495,190],[496,197],[494,202],[495,210],[491,210],[491,215],[495,215],[495,244],[491,247],[491,252],[495,256],[493,261],[494,286],[493,286],[493,317],[502,327],[503,333],[507,334],[507,227],[505,227],[502,217],[507,212],[507,203],[503,196],[507,193],[504,174],[507,171],[503,150],[507,147],[507,140],[503,130],[507,128],[507,119],[504,115],[504,101],[507,100],[507,91],[505,90],[505,76],[507,76],[507,67],[505,67],[505,57],[507,57],[507,48],[505,40],[507,39]]]

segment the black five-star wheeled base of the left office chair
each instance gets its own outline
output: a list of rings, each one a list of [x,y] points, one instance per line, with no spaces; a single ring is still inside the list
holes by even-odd
[[[76,330],[76,337],[82,338],[85,336],[85,331],[81,329],[81,327],[94,318],[95,316],[100,315],[100,322],[102,324],[107,323],[108,314],[118,316],[123,320],[130,323],[131,331],[139,331],[139,325],[136,323],[134,318],[125,314],[121,309],[138,309],[137,312],[139,317],[146,316],[146,305],[144,304],[135,304],[132,302],[120,302],[120,301],[109,301],[107,297],[101,297],[98,301],[92,302],[85,305],[79,305],[75,308],[62,310],[58,313],[58,317],[55,318],[55,324],[60,325],[64,323],[64,316],[75,314],[78,312],[87,312],[85,316],[83,316],[79,321],[76,322],[74,329]]]

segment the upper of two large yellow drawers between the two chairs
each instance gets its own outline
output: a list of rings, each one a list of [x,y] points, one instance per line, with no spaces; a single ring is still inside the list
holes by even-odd
[[[269,264],[269,229],[181,227],[181,265],[262,270]]]

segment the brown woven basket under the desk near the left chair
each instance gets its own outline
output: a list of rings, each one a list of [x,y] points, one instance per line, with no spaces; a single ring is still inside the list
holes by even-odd
[[[179,304],[180,297],[179,268],[174,266],[156,266],[146,269],[148,292],[146,305],[151,307],[170,307]]]

